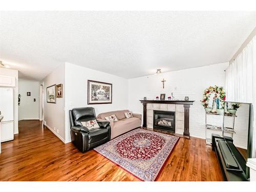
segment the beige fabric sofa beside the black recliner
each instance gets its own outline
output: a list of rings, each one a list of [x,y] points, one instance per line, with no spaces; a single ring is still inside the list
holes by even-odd
[[[121,110],[121,111],[111,111],[106,113],[101,113],[97,116],[98,120],[106,121],[105,117],[116,115],[118,121],[113,122],[110,121],[111,126],[111,139],[115,137],[129,132],[137,127],[141,126],[141,114],[134,114],[131,118],[126,118],[124,113],[129,112],[129,110]]]

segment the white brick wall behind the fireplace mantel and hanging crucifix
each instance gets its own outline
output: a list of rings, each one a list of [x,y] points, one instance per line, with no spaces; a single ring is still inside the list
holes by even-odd
[[[209,86],[225,86],[225,72],[228,62],[200,68],[186,69],[129,79],[129,109],[143,114],[140,99],[155,99],[161,93],[167,98],[174,92],[176,99],[195,100],[190,106],[190,136],[205,138],[205,111],[201,105],[203,91]],[[165,79],[162,89],[162,79]]]

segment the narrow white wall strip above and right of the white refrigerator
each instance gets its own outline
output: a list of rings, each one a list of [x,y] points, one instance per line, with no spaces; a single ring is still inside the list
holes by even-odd
[[[15,77],[14,89],[14,134],[18,134],[18,71],[0,68],[0,75]],[[0,109],[1,110],[1,109]]]

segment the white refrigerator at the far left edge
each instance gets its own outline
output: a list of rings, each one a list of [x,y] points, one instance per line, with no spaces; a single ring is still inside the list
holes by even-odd
[[[1,142],[14,139],[13,102],[13,88],[0,88],[0,111],[4,116],[1,121]]]

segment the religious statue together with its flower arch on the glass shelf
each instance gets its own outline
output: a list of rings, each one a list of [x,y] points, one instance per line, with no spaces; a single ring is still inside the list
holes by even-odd
[[[214,98],[212,98],[212,106],[209,106],[209,99],[211,94],[214,94]],[[223,87],[210,86],[204,90],[201,102],[206,113],[222,114],[224,113],[225,99],[226,93]]]

